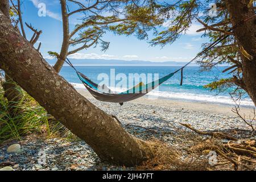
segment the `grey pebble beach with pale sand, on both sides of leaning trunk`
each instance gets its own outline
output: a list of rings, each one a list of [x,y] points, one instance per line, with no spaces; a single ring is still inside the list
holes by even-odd
[[[242,120],[231,111],[230,105],[147,100],[143,97],[120,106],[97,101],[85,90],[78,91],[106,113],[115,115],[129,133],[146,140],[156,138],[171,146],[176,145],[176,133],[191,132],[180,123],[203,131],[229,131],[235,127],[246,130]],[[242,108],[241,111],[249,114],[251,109]],[[102,162],[92,148],[80,139],[41,138],[34,135],[0,144],[0,164],[2,169],[5,167],[17,171],[135,169]]]

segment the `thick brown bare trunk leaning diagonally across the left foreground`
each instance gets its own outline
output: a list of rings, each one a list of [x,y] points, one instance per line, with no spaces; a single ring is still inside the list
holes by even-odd
[[[0,67],[101,159],[134,166],[153,156],[153,143],[127,133],[82,97],[43,59],[0,11]]]

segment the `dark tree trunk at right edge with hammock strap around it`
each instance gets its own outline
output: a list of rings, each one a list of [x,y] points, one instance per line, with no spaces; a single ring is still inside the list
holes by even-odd
[[[253,5],[249,6],[250,0],[233,1],[226,0],[233,26],[255,15]],[[242,55],[242,87],[249,94],[256,106],[256,18],[238,26],[234,35],[241,46]],[[241,83],[240,83],[241,84]]]

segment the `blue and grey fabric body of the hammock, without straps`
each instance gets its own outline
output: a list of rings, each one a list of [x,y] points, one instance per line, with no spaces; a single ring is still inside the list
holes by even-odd
[[[164,81],[174,76],[174,73],[170,73],[169,75],[164,76],[157,81],[152,81],[147,85],[144,85],[142,82],[140,82],[138,85],[134,86],[133,88],[121,93],[113,92],[106,85],[98,85],[94,83],[92,80],[90,80],[88,77],[86,77],[80,72],[77,72],[77,76],[82,81],[85,88],[97,100],[104,101],[104,102],[117,102],[120,105],[123,105],[123,102],[132,101],[139,97],[144,96],[151,90],[158,87]]]

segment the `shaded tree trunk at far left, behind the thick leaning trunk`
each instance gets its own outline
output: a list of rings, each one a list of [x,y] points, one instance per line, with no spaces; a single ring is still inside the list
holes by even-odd
[[[3,0],[0,2],[0,10],[7,18],[10,18],[9,14],[9,1]],[[10,21],[10,20],[9,20]],[[2,83],[3,90],[5,90],[4,97],[7,98],[10,107],[10,114],[15,114],[14,111],[16,104],[22,99],[22,93],[19,91],[18,85],[13,81],[11,77],[5,74],[5,81]]]

